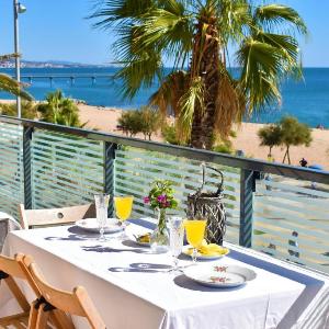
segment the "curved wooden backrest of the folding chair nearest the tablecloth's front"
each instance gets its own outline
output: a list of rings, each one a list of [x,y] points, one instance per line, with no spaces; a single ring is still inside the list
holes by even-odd
[[[72,292],[58,290],[49,285],[41,274],[37,265],[31,261],[31,257],[24,258],[24,263],[29,268],[31,276],[39,288],[42,296],[55,309],[69,315],[87,318],[91,328],[104,329],[105,325],[90,299],[87,291],[82,286],[77,286]],[[42,327],[38,329],[43,329]]]

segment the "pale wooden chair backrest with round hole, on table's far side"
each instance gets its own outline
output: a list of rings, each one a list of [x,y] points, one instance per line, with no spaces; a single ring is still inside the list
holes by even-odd
[[[50,209],[25,209],[20,204],[20,215],[22,228],[50,226],[75,223],[78,219],[95,217],[94,204],[77,205],[64,208]]]

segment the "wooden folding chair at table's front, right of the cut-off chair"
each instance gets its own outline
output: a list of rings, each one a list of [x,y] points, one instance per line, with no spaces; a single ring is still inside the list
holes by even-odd
[[[84,317],[92,329],[105,329],[101,316],[82,286],[75,287],[72,292],[60,291],[45,281],[31,257],[24,257],[24,264],[42,293],[42,297],[31,308],[30,328],[45,329],[50,313],[61,311],[70,316]],[[71,329],[75,326],[71,318],[66,316],[56,328]]]

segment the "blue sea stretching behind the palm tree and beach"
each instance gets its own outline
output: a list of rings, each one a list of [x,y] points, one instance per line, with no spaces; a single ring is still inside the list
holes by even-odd
[[[90,105],[137,109],[148,103],[149,97],[157,90],[158,84],[141,89],[132,101],[122,98],[122,81],[114,79],[117,68],[112,67],[79,67],[79,68],[22,68],[22,76],[32,76],[27,91],[36,99],[43,100],[46,94],[56,89],[64,91],[66,97],[83,100]],[[1,72],[14,75],[13,69],[1,69]],[[57,76],[65,75],[67,78]],[[75,79],[71,83],[69,76],[84,75],[86,78]],[[102,75],[105,77],[97,77]],[[33,78],[33,76],[53,77]],[[92,80],[92,76],[97,78]],[[22,79],[30,83],[29,78]],[[319,125],[329,128],[329,68],[305,68],[304,78],[295,81],[282,81],[282,102],[273,104],[260,113],[246,117],[253,123],[274,123],[282,116],[293,115],[311,127]],[[0,92],[0,99],[12,99]]]

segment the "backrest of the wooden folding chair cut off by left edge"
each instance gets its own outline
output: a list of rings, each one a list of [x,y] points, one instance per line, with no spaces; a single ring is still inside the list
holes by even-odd
[[[26,273],[22,269],[21,262],[23,262],[22,254],[15,256],[14,259],[0,254],[0,280],[4,280],[21,308],[24,311],[29,311],[30,304],[14,281],[14,277],[27,281],[37,297],[39,296],[39,292],[33,280],[27,279]]]

